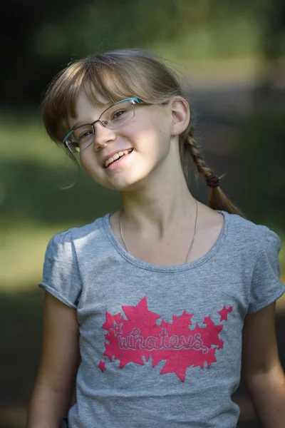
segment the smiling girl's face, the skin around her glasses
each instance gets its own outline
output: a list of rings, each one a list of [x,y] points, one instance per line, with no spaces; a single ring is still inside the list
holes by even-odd
[[[100,98],[100,102],[104,103],[103,107],[93,106],[82,92],[76,103],[78,117],[70,121],[71,128],[98,119],[110,106],[104,98]],[[83,168],[106,188],[136,190],[145,180],[159,174],[163,163],[171,156],[173,121],[169,105],[135,104],[134,108],[133,119],[120,128],[110,130],[95,123],[94,141],[80,153]],[[124,151],[129,153],[106,167],[108,158]]]

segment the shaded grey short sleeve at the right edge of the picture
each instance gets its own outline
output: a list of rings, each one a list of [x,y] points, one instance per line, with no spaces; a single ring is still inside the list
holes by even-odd
[[[252,274],[247,311],[249,314],[270,305],[285,292],[285,286],[280,280],[279,251],[281,240],[273,230],[266,226],[263,228],[264,236]]]

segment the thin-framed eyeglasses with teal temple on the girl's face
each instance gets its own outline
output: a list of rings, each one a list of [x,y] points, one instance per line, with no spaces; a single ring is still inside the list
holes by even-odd
[[[63,138],[63,144],[71,153],[80,153],[93,143],[95,137],[95,123],[100,122],[105,128],[117,129],[125,125],[135,116],[135,104],[143,103],[140,98],[132,97],[114,103],[106,108],[93,123],[78,126]]]

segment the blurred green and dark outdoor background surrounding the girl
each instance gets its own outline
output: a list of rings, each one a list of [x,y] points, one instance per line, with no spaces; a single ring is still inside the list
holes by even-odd
[[[84,170],[78,177],[46,136],[41,101],[48,83],[68,62],[95,51],[138,47],[167,58],[184,83],[204,158],[224,174],[224,192],[249,220],[279,234],[285,282],[285,2],[9,0],[1,19],[0,428],[24,428],[40,357],[37,283],[48,240],[120,206],[117,193]],[[209,189],[194,173],[190,190],[207,203]],[[281,297],[283,367],[284,325]],[[243,383],[234,399],[239,427],[259,427]]]

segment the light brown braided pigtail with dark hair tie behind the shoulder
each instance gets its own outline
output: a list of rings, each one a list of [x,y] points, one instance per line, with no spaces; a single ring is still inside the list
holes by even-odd
[[[199,152],[197,142],[195,138],[192,136],[192,128],[185,139],[185,143],[183,144],[184,149],[190,151],[192,159],[197,166],[197,170],[199,173],[204,175],[207,185],[209,185],[209,200],[208,205],[210,208],[214,210],[223,210],[227,211],[230,214],[237,214],[241,217],[245,218],[244,214],[237,208],[228,198],[224,195],[222,189],[219,187],[219,178],[217,175],[214,175],[213,171],[208,168],[204,163],[204,158],[202,154]]]

